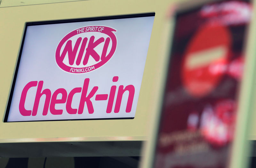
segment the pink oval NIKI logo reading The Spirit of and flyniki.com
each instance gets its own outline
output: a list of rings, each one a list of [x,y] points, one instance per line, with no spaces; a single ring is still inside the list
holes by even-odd
[[[55,60],[68,73],[87,73],[106,64],[116,51],[115,29],[87,26],[68,33],[60,41]]]

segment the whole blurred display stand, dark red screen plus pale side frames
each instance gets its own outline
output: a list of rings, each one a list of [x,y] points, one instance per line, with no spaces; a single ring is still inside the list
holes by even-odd
[[[231,8],[229,8],[230,4],[228,4],[228,2],[231,2]],[[169,67],[167,66],[167,63],[165,63],[164,66],[166,67],[166,71],[164,71],[164,73],[166,74],[166,77],[169,78],[166,79],[167,84],[169,82],[170,85],[170,83],[173,82],[173,80],[170,80],[170,76],[172,76],[172,78],[174,78],[175,80],[180,81],[178,82],[178,84],[171,84],[172,86],[163,86],[163,89],[166,89],[165,95],[163,95],[162,98],[159,99],[159,111],[157,111],[156,114],[154,114],[154,116],[152,117],[154,118],[155,122],[153,122],[153,128],[151,128],[152,134],[149,138],[150,141],[147,142],[146,148],[144,148],[144,159],[140,167],[215,168],[219,166],[221,168],[245,168],[248,166],[248,154],[250,152],[249,142],[247,141],[248,130],[250,126],[249,119],[254,109],[253,104],[256,104],[254,103],[256,101],[256,97],[253,94],[256,91],[253,86],[253,83],[256,83],[254,77],[256,70],[256,51],[254,45],[256,44],[256,41],[255,39],[252,39],[256,36],[256,25],[254,23],[255,19],[252,17],[253,20],[250,26],[249,34],[248,31],[244,31],[244,29],[246,29],[246,25],[249,22],[249,20],[247,20],[248,17],[247,19],[246,17],[243,18],[243,12],[236,13],[236,10],[239,11],[240,8],[241,10],[244,10],[245,8],[245,12],[246,9],[250,8],[250,3],[246,4],[246,2],[245,4],[243,4],[243,2],[232,0],[205,0],[203,2],[186,1],[185,3],[177,3],[177,10],[174,11],[181,11],[181,15],[179,16],[182,16],[181,18],[183,18],[183,23],[186,23],[186,21],[184,20],[191,22],[192,19],[194,20],[194,25],[199,24],[198,27],[194,26],[193,24],[183,25],[186,27],[186,30],[193,29],[192,31],[189,30],[187,32],[186,30],[178,31],[177,20],[175,20],[177,19],[175,18],[177,17],[177,13],[173,12],[172,8],[170,10],[171,12],[167,12],[172,14],[169,14],[166,19],[166,24],[163,28],[164,45],[160,48],[162,50],[161,53],[164,55],[164,57],[166,57],[166,60],[168,60],[169,57],[171,61]],[[200,6],[207,7],[207,5],[208,8],[205,8],[206,14],[201,13],[203,16],[201,18],[199,17],[201,19],[200,21],[197,21],[195,18],[198,17],[198,13],[196,14],[196,12],[203,9],[201,9]],[[255,9],[254,5],[253,9]],[[192,13],[193,17],[186,16],[189,15],[188,13],[190,12]],[[173,13],[175,13],[175,16]],[[187,18],[184,19],[184,16]],[[230,19],[230,16],[233,18]],[[176,27],[173,34],[172,32],[174,26]],[[236,27],[239,27],[239,30],[236,29]],[[211,34],[215,34],[215,30],[218,31],[219,35],[217,34],[216,36],[212,36]],[[176,36],[175,39],[174,36],[177,32],[179,32],[179,37]],[[237,32],[239,34],[239,37],[237,37]],[[204,36],[202,36],[202,34],[204,34]],[[210,35],[208,36],[208,34]],[[206,36],[208,36],[207,38],[209,38],[206,38],[208,41],[200,41]],[[200,39],[198,37],[203,38]],[[198,45],[198,41],[200,41],[203,45]],[[207,43],[209,41],[214,42],[210,42],[211,44],[205,46],[204,43]],[[173,43],[175,43],[175,45],[173,45]],[[176,50],[174,48],[175,51],[173,51],[173,46],[179,49]],[[243,61],[244,50],[246,50],[245,65]],[[179,59],[183,61],[177,61]],[[186,63],[184,63],[186,61],[188,62],[187,68]],[[222,70],[220,70],[221,68],[215,68],[214,72],[208,72],[211,71],[210,69],[212,64],[215,67],[224,67],[224,69],[222,68]],[[236,70],[237,68],[241,68],[241,65],[244,66],[242,84],[240,83],[242,75],[240,75],[239,72],[233,71],[234,69]],[[176,69],[170,68],[172,66],[175,66]],[[205,68],[206,66],[207,68]],[[200,72],[203,73],[203,77],[200,77],[199,75],[198,79],[195,80],[195,78],[197,78],[196,76],[198,75],[195,75],[196,73],[191,73],[191,69],[193,68],[195,68],[196,70],[200,70]],[[179,72],[173,73],[173,70],[177,70]],[[169,76],[167,75],[167,73],[169,73]],[[171,73],[172,75],[170,75]],[[188,82],[184,82],[184,76],[177,75],[186,75],[186,73],[189,73],[189,75],[187,75]],[[219,76],[216,74],[218,74]],[[195,76],[195,78],[192,78],[191,76]],[[216,81],[214,81],[213,79],[216,79]],[[194,81],[194,85],[191,85],[191,81]],[[164,82],[165,80],[163,81],[163,83]],[[205,83],[207,85],[205,85]],[[228,84],[231,84],[232,87],[225,90],[225,87],[227,87]],[[176,101],[169,99],[168,103],[171,102],[172,107],[170,107],[170,105],[166,105],[168,89],[168,94],[172,95],[174,99],[178,99]],[[239,93],[233,94],[232,92]],[[237,96],[239,96],[238,100]],[[180,105],[179,103],[183,105]],[[238,110],[236,109],[236,104],[238,104]],[[233,106],[232,110],[225,111],[225,109],[229,108],[230,105]],[[184,106],[188,107],[185,108]],[[181,114],[178,115],[178,112],[180,112]],[[222,112],[223,114],[220,114]],[[181,115],[183,115],[183,120],[185,118],[186,122],[188,123],[187,127],[185,120],[182,121],[183,124],[172,124],[174,122],[179,122],[180,120],[177,119]],[[229,116],[229,118],[226,118],[225,115],[231,116]],[[172,116],[176,117],[177,119],[169,120],[170,128],[166,128],[168,123],[168,117],[172,118]],[[208,117],[206,117],[205,119],[204,116]],[[230,131],[234,128],[234,120],[232,119],[233,117],[236,118],[234,137],[233,131]],[[163,121],[165,124],[163,124]],[[172,128],[173,126],[177,127],[177,129]],[[162,136],[162,139],[160,136]],[[179,138],[177,138],[177,136]],[[189,138],[184,139],[184,137],[186,136],[190,137],[190,140]],[[178,142],[177,139],[179,139],[180,142]],[[162,142],[164,142],[165,144]],[[160,143],[162,144],[159,145]],[[195,151],[196,154],[193,155],[193,152]],[[157,152],[159,152],[160,154],[157,154]],[[204,159],[201,158],[200,160],[200,157],[197,156],[204,156]],[[207,158],[210,158],[210,156],[214,156],[219,160],[215,161],[214,158],[211,158],[210,162],[212,161],[212,163],[209,164],[207,163]],[[222,156],[225,157],[222,158]],[[193,158],[196,158],[196,161],[191,162],[191,159],[193,160]],[[179,159],[183,160],[181,164],[179,164]],[[202,162],[202,164],[200,165],[199,162]]]

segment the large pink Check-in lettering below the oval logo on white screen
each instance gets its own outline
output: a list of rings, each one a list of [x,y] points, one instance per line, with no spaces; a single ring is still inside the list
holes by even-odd
[[[118,76],[114,76],[112,81],[117,82]],[[116,88],[117,88],[116,85],[111,86],[109,95],[108,94],[96,94],[96,92],[98,90],[98,86],[94,86],[92,88],[92,90],[89,90],[89,82],[90,82],[90,79],[86,78],[86,79],[84,79],[84,84],[83,84],[82,88],[73,88],[69,92],[69,94],[67,93],[66,89],[59,88],[59,89],[55,90],[55,92],[53,92],[52,95],[51,95],[50,89],[48,89],[48,88],[43,89],[44,81],[41,80],[39,82],[37,82],[37,81],[28,82],[28,84],[25,85],[25,87],[23,88],[22,93],[21,93],[20,104],[19,104],[20,114],[23,116],[30,116],[30,115],[36,116],[37,111],[38,111],[38,106],[39,106],[40,100],[43,95],[45,97],[44,107],[43,107],[43,112],[42,112],[43,116],[47,115],[48,110],[50,110],[50,112],[53,115],[61,115],[63,113],[63,109],[56,109],[55,105],[56,104],[64,104],[64,103],[66,103],[65,106],[66,106],[66,111],[68,114],[82,114],[84,112],[85,103],[87,106],[88,113],[93,114],[94,108],[93,108],[92,97],[94,97],[94,95],[95,95],[95,99],[94,99],[95,101],[108,101],[106,112],[111,113],[113,104],[114,104],[115,94],[116,94]],[[37,86],[37,89],[36,89],[36,93],[35,93],[36,96],[35,96],[33,109],[32,109],[32,111],[27,110],[27,109],[25,109],[25,101],[26,101],[26,97],[28,94],[28,90],[30,88],[36,87],[36,86]],[[118,113],[120,111],[122,98],[126,91],[128,91],[127,92],[128,100],[127,100],[125,111],[127,113],[131,112],[133,98],[134,98],[134,94],[135,94],[135,88],[133,85],[128,85],[125,88],[124,88],[124,85],[120,85],[118,88],[118,91],[117,91],[117,96],[116,96],[116,104],[115,104],[115,108],[114,108],[115,113]],[[78,108],[72,108],[71,104],[73,101],[73,97],[76,93],[81,93],[79,106],[78,106]]]

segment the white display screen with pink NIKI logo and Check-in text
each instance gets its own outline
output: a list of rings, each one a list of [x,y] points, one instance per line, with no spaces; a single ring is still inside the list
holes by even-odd
[[[134,118],[153,21],[27,23],[4,121]]]

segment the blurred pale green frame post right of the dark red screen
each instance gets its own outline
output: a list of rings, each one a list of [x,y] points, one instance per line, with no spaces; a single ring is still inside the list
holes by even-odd
[[[249,166],[251,147],[249,136],[252,129],[253,114],[256,102],[256,18],[255,0],[252,0],[252,19],[247,32],[245,45],[244,77],[241,83],[238,120],[233,142],[230,168],[244,168]],[[255,139],[254,139],[255,140]]]

